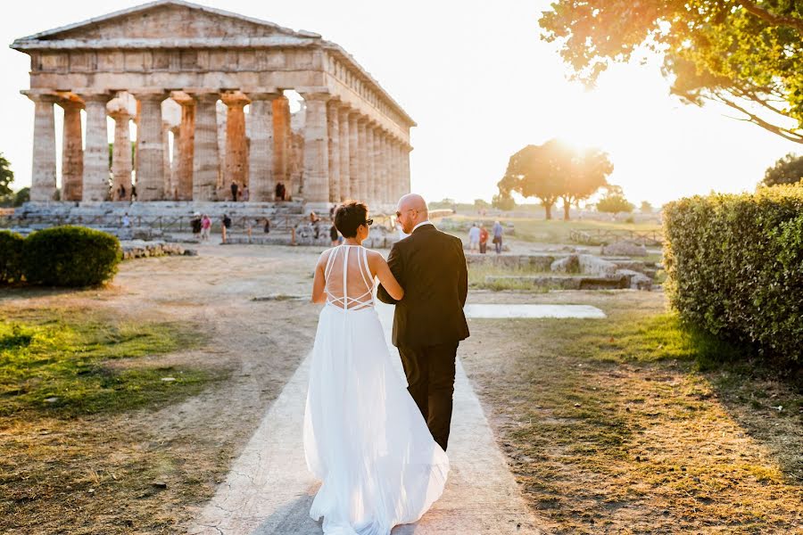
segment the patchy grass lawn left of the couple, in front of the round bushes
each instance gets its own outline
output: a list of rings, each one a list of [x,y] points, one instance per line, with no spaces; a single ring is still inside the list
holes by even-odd
[[[169,519],[145,514],[161,499],[154,481],[181,481],[187,496],[205,484],[176,475],[177,457],[148,441],[135,409],[149,413],[225,378],[154,358],[203,336],[88,310],[3,313],[0,532],[166,532]]]

